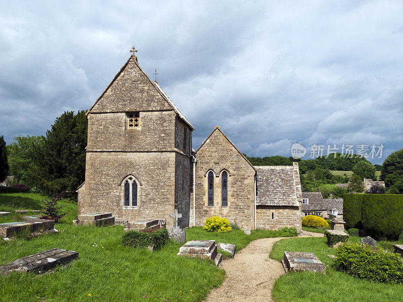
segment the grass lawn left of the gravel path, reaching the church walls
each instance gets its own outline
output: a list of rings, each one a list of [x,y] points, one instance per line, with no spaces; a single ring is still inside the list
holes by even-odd
[[[42,209],[45,197],[31,193],[0,194],[0,210]],[[0,241],[0,264],[51,248],[79,252],[79,260],[53,274],[11,273],[0,276],[0,297],[4,301],[201,301],[225,278],[224,270],[212,261],[178,257],[181,244],[169,241],[153,253],[121,244],[120,225],[92,228],[73,225],[77,204],[59,201],[67,212],[56,235],[31,240]],[[21,215],[0,217],[0,223],[16,221]],[[280,231],[211,233],[201,228],[186,230],[186,239],[216,239],[244,248],[251,240],[289,236]]]

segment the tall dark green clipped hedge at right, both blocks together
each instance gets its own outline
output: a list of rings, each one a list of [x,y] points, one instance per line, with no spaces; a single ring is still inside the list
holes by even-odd
[[[346,229],[364,229],[374,238],[397,239],[403,231],[403,195],[345,194]]]

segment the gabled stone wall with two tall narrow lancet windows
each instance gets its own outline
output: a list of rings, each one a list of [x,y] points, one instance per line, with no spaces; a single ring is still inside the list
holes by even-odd
[[[255,170],[216,127],[196,153],[196,225],[219,215],[241,228],[254,229]],[[214,171],[214,205],[208,205],[207,172]],[[221,174],[228,172],[228,206],[221,204]],[[193,211],[193,197],[191,198]],[[190,222],[192,224],[193,221]]]

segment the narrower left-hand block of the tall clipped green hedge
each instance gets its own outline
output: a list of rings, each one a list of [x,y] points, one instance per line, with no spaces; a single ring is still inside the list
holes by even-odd
[[[343,219],[346,222],[346,229],[362,229],[361,211],[363,196],[364,194],[344,194]]]

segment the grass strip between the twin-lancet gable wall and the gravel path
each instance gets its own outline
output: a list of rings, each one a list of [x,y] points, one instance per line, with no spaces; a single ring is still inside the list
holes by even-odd
[[[245,235],[242,230],[232,230],[228,233],[207,232],[201,226],[194,226],[186,230],[186,240],[215,240],[217,243],[235,244],[235,251],[246,247],[251,241],[260,238],[292,237],[282,231],[256,230]]]

